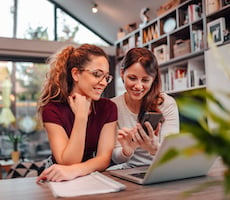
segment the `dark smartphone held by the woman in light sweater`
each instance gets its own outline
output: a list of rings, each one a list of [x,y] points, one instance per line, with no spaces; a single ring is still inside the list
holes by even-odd
[[[162,121],[163,115],[162,113],[157,113],[157,112],[146,112],[141,120],[141,125],[145,132],[148,134],[147,128],[144,125],[144,122],[148,121],[152,127],[153,130],[156,130],[157,125],[160,121]]]

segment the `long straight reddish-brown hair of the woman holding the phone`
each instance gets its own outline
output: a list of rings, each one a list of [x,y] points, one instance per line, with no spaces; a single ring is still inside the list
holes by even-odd
[[[125,71],[135,63],[140,63],[146,73],[154,78],[150,90],[144,96],[141,103],[140,112],[138,114],[138,120],[141,121],[146,111],[160,112],[158,106],[163,103],[164,99],[161,96],[161,76],[155,55],[146,48],[130,49],[123,59],[121,66],[122,70]]]

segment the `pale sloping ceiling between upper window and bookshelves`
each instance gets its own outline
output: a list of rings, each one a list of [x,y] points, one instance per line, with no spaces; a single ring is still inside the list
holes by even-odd
[[[110,44],[117,40],[117,32],[128,24],[142,23],[140,12],[149,8],[146,13],[149,19],[156,17],[156,10],[166,0],[52,0],[65,11],[76,17],[81,23],[100,35]],[[91,8],[98,5],[98,12],[93,14]]]

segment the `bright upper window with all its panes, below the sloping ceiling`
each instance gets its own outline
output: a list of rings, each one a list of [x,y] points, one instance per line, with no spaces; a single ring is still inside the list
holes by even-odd
[[[16,2],[17,7],[14,5]],[[17,9],[17,10],[16,10]],[[47,0],[7,0],[0,3],[0,37],[72,41],[109,46],[107,42],[83,26],[76,19],[57,9],[55,33],[55,6]],[[14,20],[15,19],[15,20]],[[55,35],[57,37],[55,37]]]

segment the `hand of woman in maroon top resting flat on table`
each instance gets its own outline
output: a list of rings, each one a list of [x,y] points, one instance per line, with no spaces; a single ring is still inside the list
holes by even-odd
[[[43,180],[47,181],[65,181],[65,180],[72,180],[77,177],[76,171],[73,170],[71,165],[59,165],[54,164],[49,168],[45,169],[40,176],[37,178],[37,183]]]

